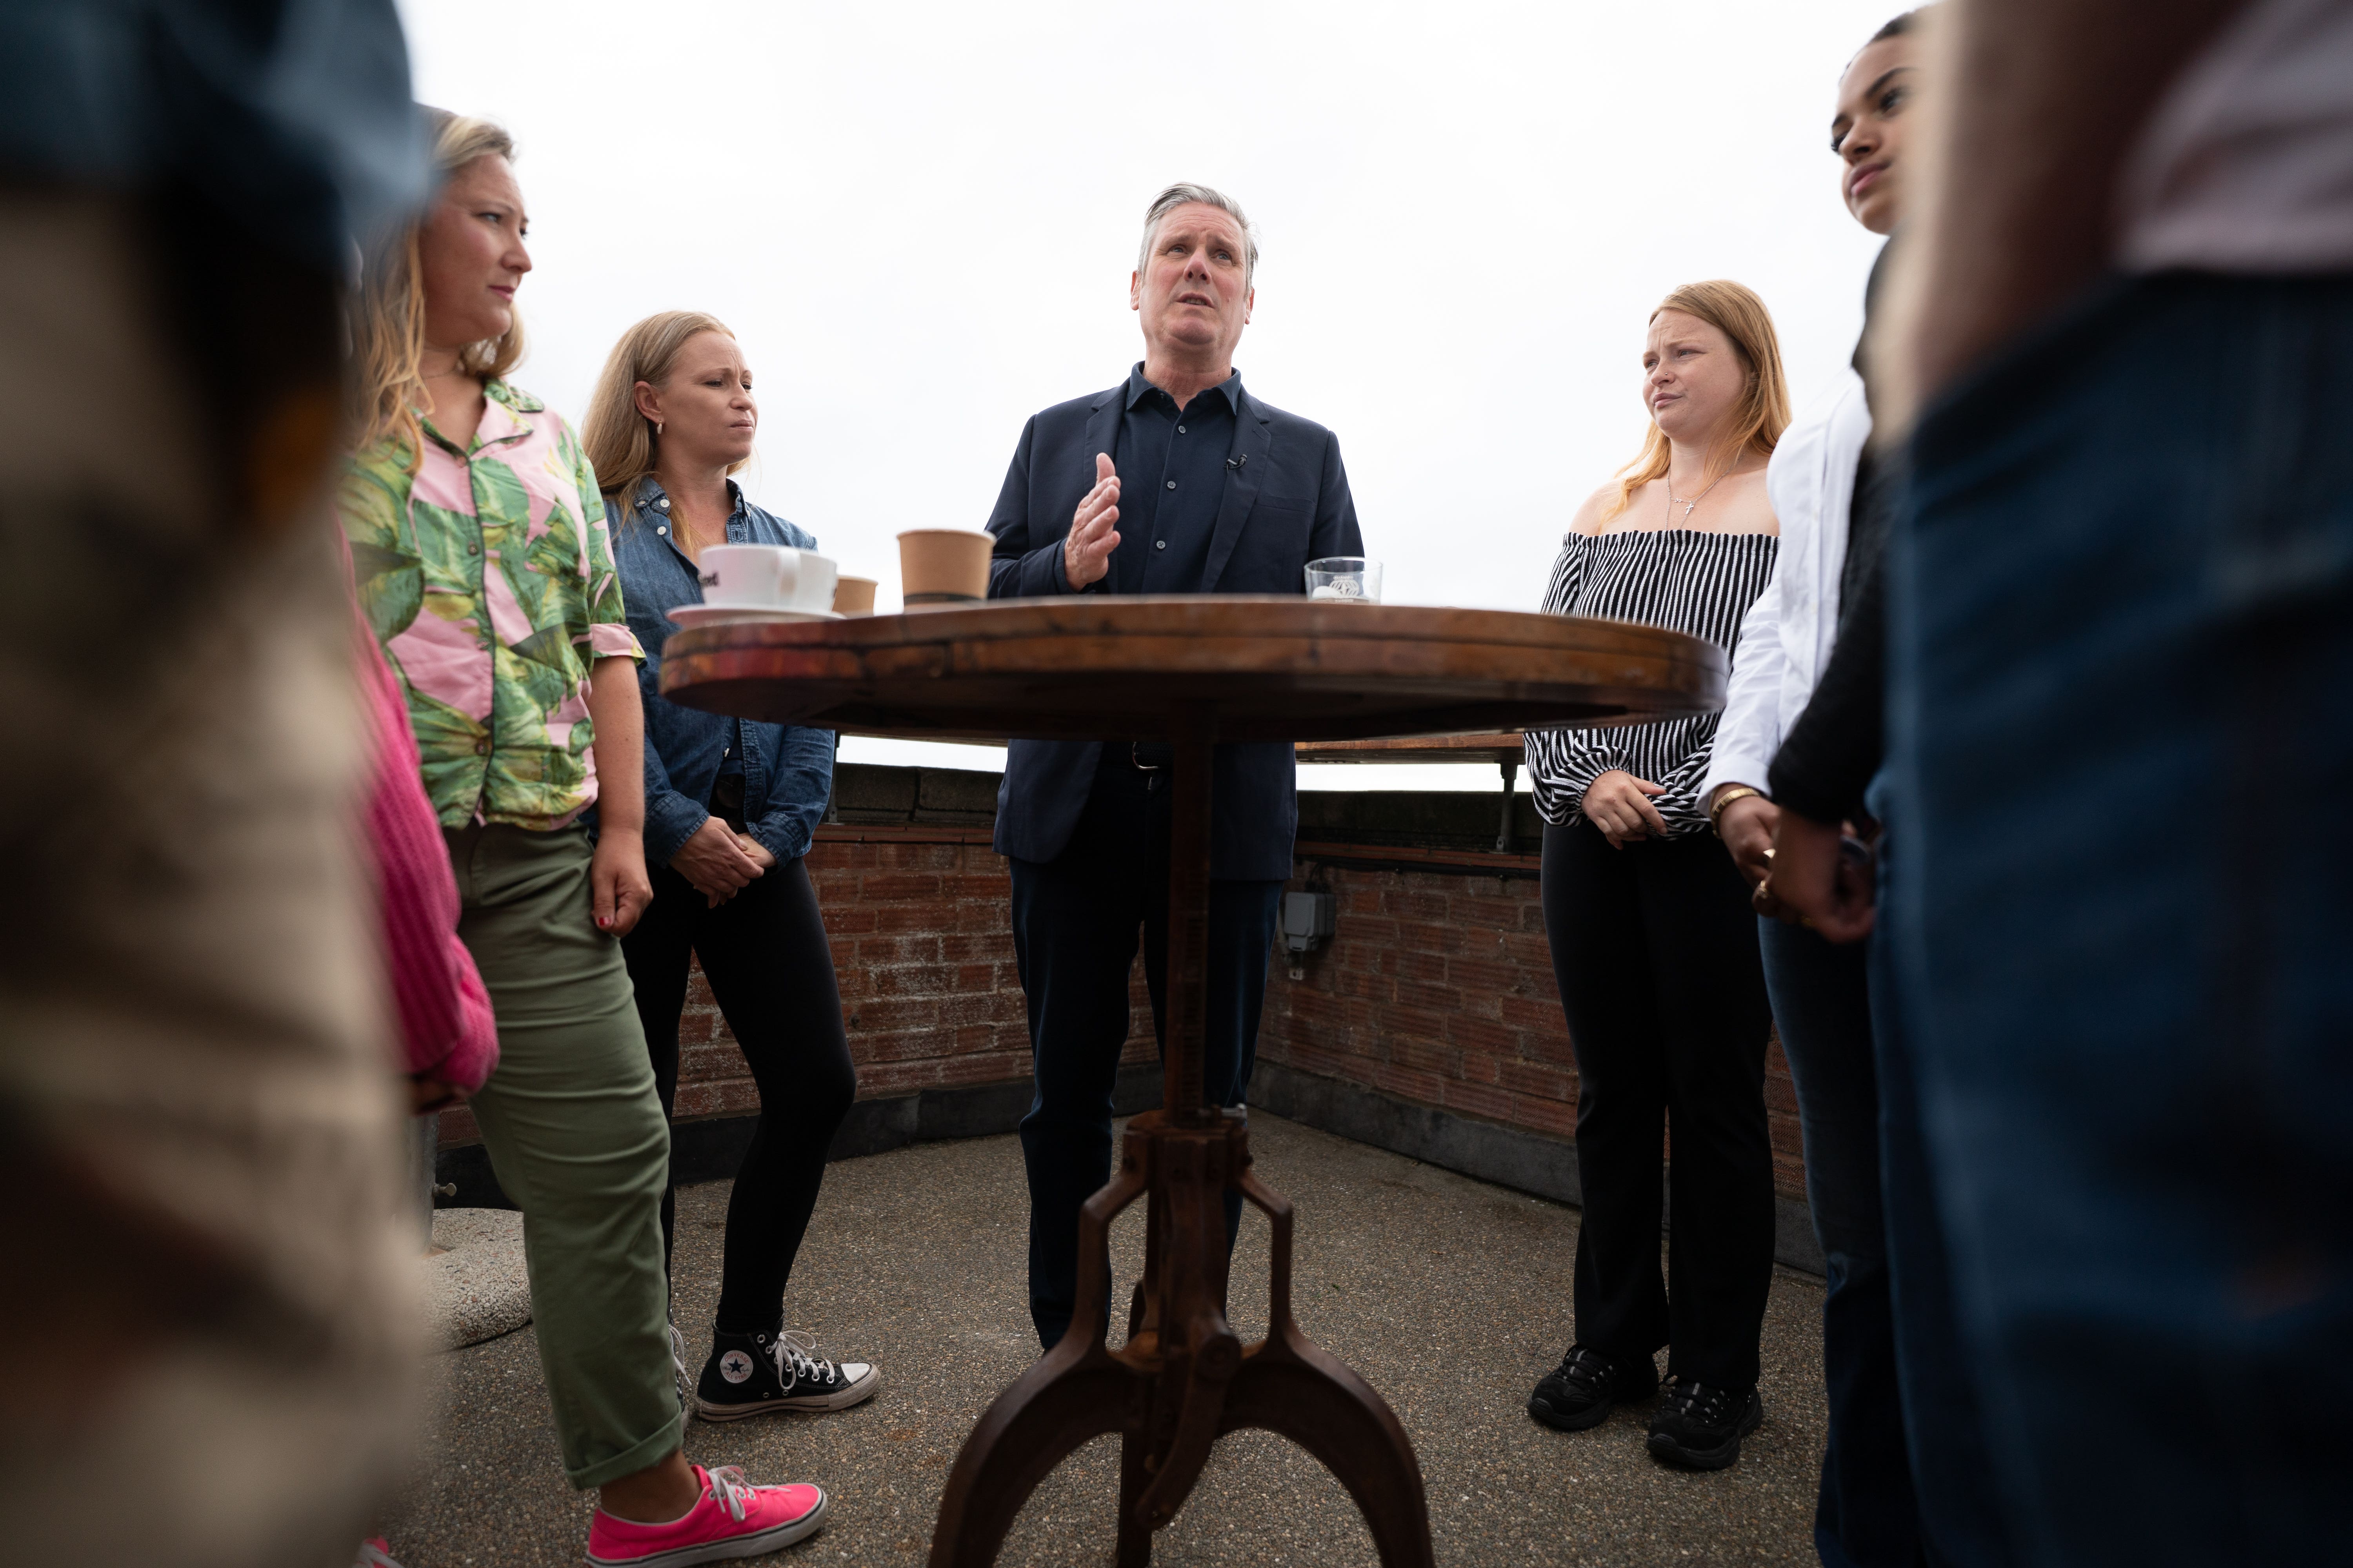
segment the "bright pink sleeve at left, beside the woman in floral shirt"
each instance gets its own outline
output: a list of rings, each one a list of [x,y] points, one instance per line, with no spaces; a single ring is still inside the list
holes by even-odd
[[[464,1093],[499,1065],[499,1025],[473,954],[456,938],[456,877],[449,844],[426,802],[416,736],[400,682],[362,621],[360,693],[374,741],[367,792],[367,849],[384,905],[384,966],[400,1016],[407,1072],[431,1072]]]

